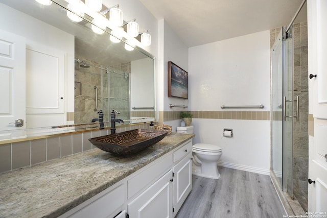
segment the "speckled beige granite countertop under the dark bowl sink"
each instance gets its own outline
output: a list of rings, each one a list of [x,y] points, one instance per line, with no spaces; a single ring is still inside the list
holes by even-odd
[[[94,149],[0,174],[0,217],[57,217],[193,137],[173,133],[134,155]]]

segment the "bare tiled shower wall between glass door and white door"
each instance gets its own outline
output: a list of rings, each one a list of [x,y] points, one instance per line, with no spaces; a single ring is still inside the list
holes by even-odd
[[[293,185],[294,195],[303,209],[308,205],[309,164],[309,92],[308,92],[308,26],[294,25],[294,99],[299,96],[299,120],[293,125]],[[296,108],[294,108],[294,113]]]

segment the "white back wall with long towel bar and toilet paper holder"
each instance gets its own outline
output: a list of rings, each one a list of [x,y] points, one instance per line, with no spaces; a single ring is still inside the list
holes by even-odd
[[[192,111],[269,111],[269,31],[191,47],[189,107]],[[221,105],[260,105],[264,109],[221,109]],[[218,144],[220,164],[269,174],[270,121],[194,119],[194,143]],[[223,129],[233,137],[223,137]]]

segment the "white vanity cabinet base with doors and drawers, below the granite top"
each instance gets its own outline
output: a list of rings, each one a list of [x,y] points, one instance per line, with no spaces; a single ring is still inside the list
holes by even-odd
[[[192,189],[192,139],[60,216],[174,217]]]

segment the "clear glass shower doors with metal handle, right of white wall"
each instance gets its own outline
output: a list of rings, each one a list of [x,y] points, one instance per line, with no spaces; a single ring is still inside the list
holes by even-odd
[[[289,33],[292,31],[293,27],[289,28]],[[276,40],[278,41],[275,41],[273,45],[271,60],[271,168],[276,178],[282,177],[280,180],[277,179],[281,189],[293,198],[294,100],[292,34],[286,37],[285,28],[282,28]],[[274,87],[276,85],[277,89]]]

